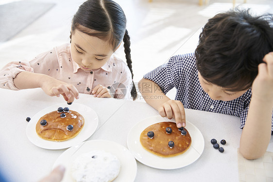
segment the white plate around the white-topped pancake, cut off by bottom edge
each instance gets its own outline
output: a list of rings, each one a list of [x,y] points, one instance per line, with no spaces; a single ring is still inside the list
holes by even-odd
[[[64,165],[66,172],[63,182],[73,182],[71,175],[71,165],[73,161],[83,153],[92,150],[104,150],[115,155],[120,162],[120,171],[114,182],[134,182],[136,178],[136,159],[132,153],[124,146],[107,140],[88,140],[64,151],[55,161],[53,168]]]

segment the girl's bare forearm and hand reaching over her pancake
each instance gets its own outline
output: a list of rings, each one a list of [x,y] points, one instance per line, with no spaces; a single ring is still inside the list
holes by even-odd
[[[73,102],[74,98],[79,99],[79,92],[74,85],[45,74],[22,71],[17,74],[13,81],[18,89],[41,87],[47,95],[57,97],[62,95],[68,102]]]

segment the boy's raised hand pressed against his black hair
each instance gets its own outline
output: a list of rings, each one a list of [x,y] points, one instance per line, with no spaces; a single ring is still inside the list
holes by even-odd
[[[273,103],[273,52],[263,58],[258,66],[258,75],[252,84],[252,96]]]

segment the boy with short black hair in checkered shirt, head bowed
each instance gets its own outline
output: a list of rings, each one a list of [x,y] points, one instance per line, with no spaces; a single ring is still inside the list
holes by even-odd
[[[174,117],[179,128],[186,124],[184,108],[239,116],[239,150],[256,159],[273,131],[272,51],[273,15],[230,10],[208,20],[195,54],[171,57],[144,75],[138,87],[146,102],[161,116]],[[161,90],[144,90],[147,83]],[[165,95],[173,87],[175,100]],[[164,99],[149,99],[154,96]]]

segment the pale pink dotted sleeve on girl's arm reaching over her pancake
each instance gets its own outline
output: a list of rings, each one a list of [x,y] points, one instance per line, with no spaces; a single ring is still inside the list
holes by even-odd
[[[42,54],[37,55],[30,62],[16,61],[10,62],[0,70],[0,87],[19,90],[13,79],[22,71],[29,71],[34,73],[48,74],[48,66],[56,65],[57,55],[55,50],[50,50]],[[49,75],[49,74],[48,74]]]

